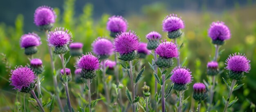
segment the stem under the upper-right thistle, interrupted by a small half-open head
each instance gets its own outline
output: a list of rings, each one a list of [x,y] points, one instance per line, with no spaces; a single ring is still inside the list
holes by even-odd
[[[214,61],[217,61],[217,58],[218,58],[218,52],[219,52],[219,49],[220,49],[220,46],[219,45],[216,45],[216,49],[215,49],[215,56],[214,56]],[[211,85],[211,88],[210,88],[210,105],[209,105],[209,108],[208,110],[211,109],[211,103],[213,102],[213,96],[214,96],[214,87],[215,87],[215,84],[216,84],[216,76],[212,76],[212,83],[213,85]]]

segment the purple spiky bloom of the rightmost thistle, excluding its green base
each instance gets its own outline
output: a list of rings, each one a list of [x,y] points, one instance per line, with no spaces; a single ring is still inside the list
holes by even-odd
[[[250,60],[247,59],[245,54],[235,53],[233,55],[229,55],[227,58],[226,69],[231,70],[233,72],[249,72],[251,69]]]

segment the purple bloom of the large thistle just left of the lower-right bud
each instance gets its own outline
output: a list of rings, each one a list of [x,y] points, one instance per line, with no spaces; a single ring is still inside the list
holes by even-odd
[[[175,67],[172,71],[171,81],[177,84],[191,83],[191,72],[186,67]]]

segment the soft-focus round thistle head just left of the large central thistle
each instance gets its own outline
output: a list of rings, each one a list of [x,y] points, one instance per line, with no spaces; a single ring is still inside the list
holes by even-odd
[[[92,43],[92,51],[99,59],[106,59],[113,53],[113,44],[106,38],[97,38]]]

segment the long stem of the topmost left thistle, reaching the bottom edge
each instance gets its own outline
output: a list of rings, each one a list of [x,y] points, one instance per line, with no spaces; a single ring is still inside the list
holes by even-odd
[[[46,30],[45,31],[46,38],[48,36],[48,33],[49,33],[48,30]],[[49,45],[47,45],[47,46],[48,46],[48,51],[49,51],[49,54],[50,54],[52,72],[54,74],[55,67],[54,67],[54,62],[53,62],[53,58],[52,58],[52,48]],[[60,108],[61,112],[64,112],[64,108],[63,108],[63,105],[61,103],[61,99],[60,99],[60,95],[59,95],[58,81],[57,81],[56,74],[52,75],[52,78],[53,78],[54,89],[55,89],[55,94],[56,94],[56,98],[57,98],[57,101],[58,101],[59,108]]]

